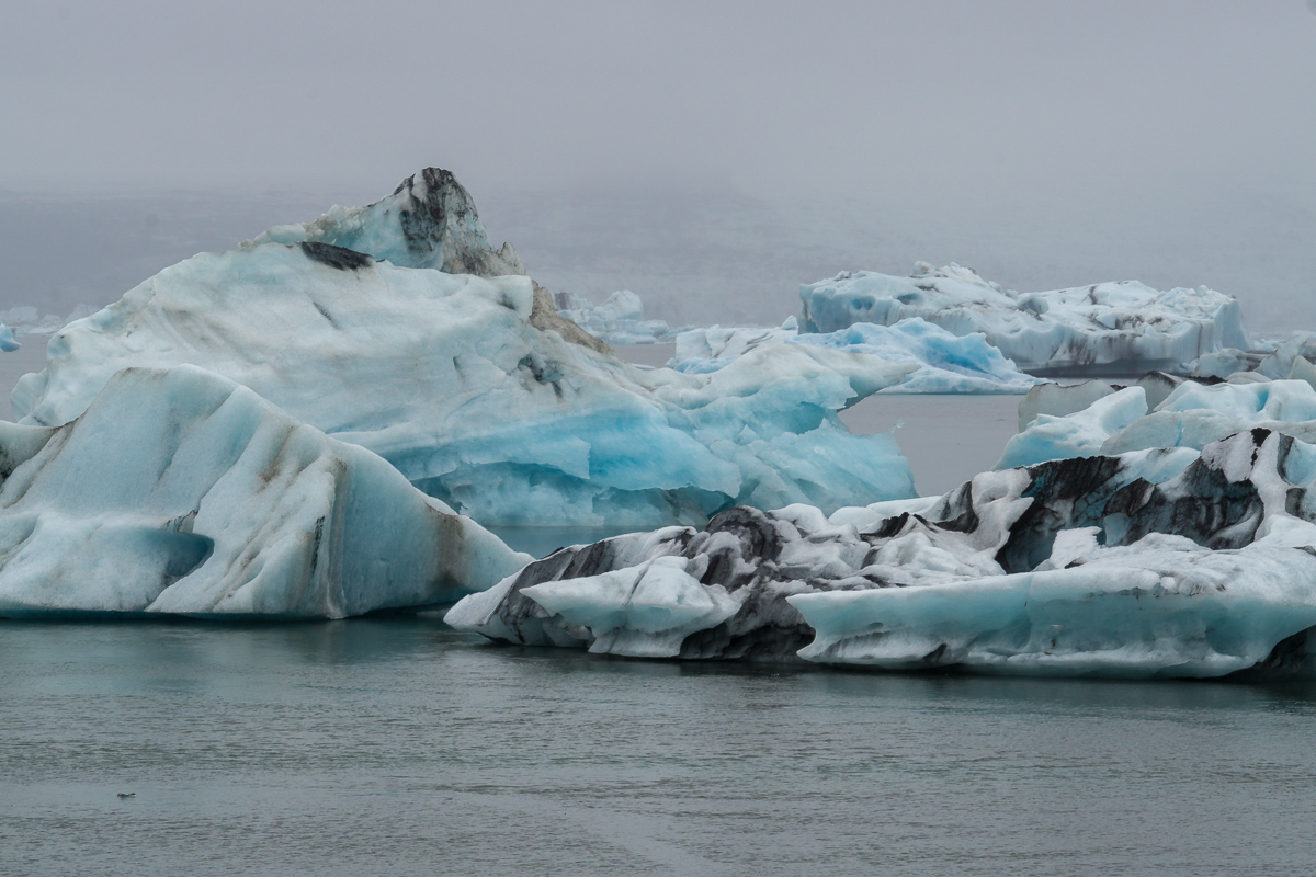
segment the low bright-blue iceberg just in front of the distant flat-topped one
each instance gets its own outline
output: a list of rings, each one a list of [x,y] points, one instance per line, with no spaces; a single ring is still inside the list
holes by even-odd
[[[751,350],[774,344],[871,354],[917,367],[909,380],[886,393],[1026,393],[1040,380],[1015,368],[982,334],[954,335],[917,317],[892,326],[855,323],[826,334],[801,334],[795,317],[772,329],[695,329],[676,335],[670,366],[683,372],[713,372]]]

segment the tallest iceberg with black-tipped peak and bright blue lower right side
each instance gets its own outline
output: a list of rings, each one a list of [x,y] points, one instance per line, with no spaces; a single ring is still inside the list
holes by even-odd
[[[426,185],[437,216],[450,195]],[[395,197],[418,191],[404,184]],[[450,224],[403,214],[375,205],[312,226],[346,227],[355,237],[334,239],[358,246],[382,241],[399,260],[457,258]],[[312,226],[268,237],[315,237]],[[434,250],[407,237],[417,227],[438,230]],[[895,439],[851,435],[837,418],[911,367],[790,344],[713,375],[642,369],[562,320],[551,298],[546,313],[546,296],[520,275],[400,267],[324,241],[250,243],[166,268],[63,329],[46,369],[18,381],[14,413],[61,426],[122,368],[191,363],[375,451],[488,525],[649,527],[703,523],[736,504],[834,509],[912,494]]]

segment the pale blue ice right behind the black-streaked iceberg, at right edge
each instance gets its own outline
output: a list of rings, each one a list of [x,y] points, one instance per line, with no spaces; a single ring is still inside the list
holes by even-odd
[[[1103,387],[1109,388],[1091,381],[1087,387],[1063,389],[1082,398]],[[1257,427],[1316,442],[1316,388],[1302,380],[1184,381],[1154,408],[1148,404],[1145,387],[1109,388],[1108,393],[1073,413],[1037,414],[1009,439],[996,468],[1154,447],[1203,448],[1227,435]]]

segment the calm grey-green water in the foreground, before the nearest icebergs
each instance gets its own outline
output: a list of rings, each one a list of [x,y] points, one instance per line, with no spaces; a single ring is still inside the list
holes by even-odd
[[[5,622],[0,872],[1312,873],[1313,728],[1311,684]]]

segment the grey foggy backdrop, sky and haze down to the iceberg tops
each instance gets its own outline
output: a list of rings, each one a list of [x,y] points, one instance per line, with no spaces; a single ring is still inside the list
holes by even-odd
[[[674,322],[957,260],[1316,329],[1302,0],[9,4],[0,306],[453,170],[541,281]]]

